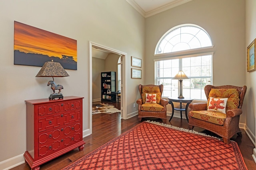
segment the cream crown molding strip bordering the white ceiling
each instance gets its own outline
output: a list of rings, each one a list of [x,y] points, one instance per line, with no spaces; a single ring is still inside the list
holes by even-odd
[[[169,4],[160,6],[154,10],[151,10],[149,12],[145,12],[134,0],[126,0],[135,10],[137,10],[142,16],[144,16],[144,18],[153,16],[155,14],[158,14],[160,12],[169,10],[171,8],[174,8],[176,6],[185,4],[187,2],[190,2],[192,0],[176,0],[174,2],[170,2]]]

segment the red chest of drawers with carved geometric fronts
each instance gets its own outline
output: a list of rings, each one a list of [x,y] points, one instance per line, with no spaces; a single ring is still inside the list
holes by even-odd
[[[84,149],[82,97],[26,100],[26,163],[32,170],[76,147]]]

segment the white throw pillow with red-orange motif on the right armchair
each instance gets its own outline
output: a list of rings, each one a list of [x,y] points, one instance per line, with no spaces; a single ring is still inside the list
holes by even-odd
[[[226,114],[226,105],[228,98],[212,98],[210,97],[210,102],[207,110],[217,111]]]

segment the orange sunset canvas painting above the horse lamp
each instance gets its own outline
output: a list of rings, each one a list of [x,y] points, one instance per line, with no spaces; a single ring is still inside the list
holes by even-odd
[[[77,41],[14,21],[14,64],[43,66],[52,60],[77,70]]]

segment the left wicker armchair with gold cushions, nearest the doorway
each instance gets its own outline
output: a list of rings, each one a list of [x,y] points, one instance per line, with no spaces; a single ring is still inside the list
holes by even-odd
[[[157,117],[162,119],[166,123],[166,105],[167,100],[161,98],[164,86],[161,84],[157,85],[139,85],[139,91],[141,98],[137,100],[138,107],[138,118],[141,121],[142,117]],[[146,95],[156,94],[156,103],[147,103]]]

